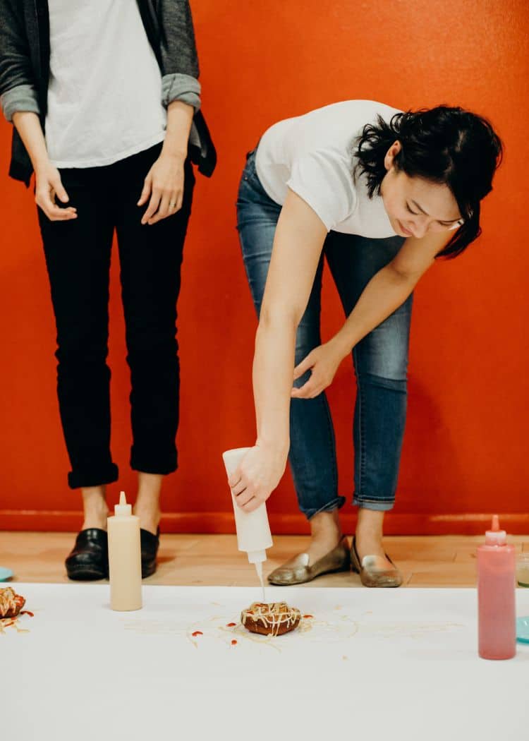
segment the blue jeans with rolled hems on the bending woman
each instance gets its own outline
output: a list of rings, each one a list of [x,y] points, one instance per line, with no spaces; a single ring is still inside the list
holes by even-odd
[[[242,257],[257,314],[261,308],[273,236],[281,206],[265,193],[256,173],[255,153],[247,156],[237,199]],[[387,265],[404,239],[366,239],[331,231],[325,239],[307,309],[296,336],[296,365],[322,344],[320,310],[324,257],[346,316],[367,282]],[[413,296],[353,348],[356,407],[353,505],[385,511],[393,507],[404,436],[407,356]],[[296,381],[303,385],[307,371]],[[333,421],[325,393],[290,402],[290,468],[300,510],[310,519],[342,507]]]

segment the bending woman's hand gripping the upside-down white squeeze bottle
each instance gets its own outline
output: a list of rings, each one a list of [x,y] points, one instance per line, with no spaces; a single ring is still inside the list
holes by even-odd
[[[266,502],[279,484],[287,454],[257,443],[250,448],[236,471],[227,479],[235,501],[244,512],[253,512]]]

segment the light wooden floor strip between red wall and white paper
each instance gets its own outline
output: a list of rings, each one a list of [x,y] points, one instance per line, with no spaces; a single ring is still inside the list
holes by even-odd
[[[0,532],[0,565],[18,582],[67,582],[64,558],[72,533]],[[470,587],[476,583],[476,547],[482,536],[392,536],[385,547],[410,587]],[[516,551],[529,554],[529,535],[510,536]],[[305,548],[305,536],[274,536],[265,573]],[[253,566],[237,551],[233,535],[162,535],[159,568],[147,584],[250,586]],[[356,574],[327,574],[312,586],[359,587]]]

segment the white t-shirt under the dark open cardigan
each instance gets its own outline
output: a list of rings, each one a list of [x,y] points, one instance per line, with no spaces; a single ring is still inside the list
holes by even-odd
[[[53,165],[111,165],[162,142],[162,75],[136,1],[48,4],[46,144]]]

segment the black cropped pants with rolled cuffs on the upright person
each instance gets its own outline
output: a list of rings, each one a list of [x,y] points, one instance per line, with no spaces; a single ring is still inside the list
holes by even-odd
[[[51,222],[39,209],[56,317],[57,391],[70,488],[118,478],[110,453],[107,365],[114,230],[132,387],[130,465],[146,473],[170,473],[177,466],[176,302],[195,179],[186,162],[182,209],[155,225],[142,225],[146,206],[136,203],[161,146],[106,167],[61,170],[77,219]]]

